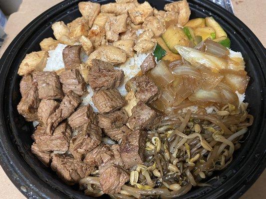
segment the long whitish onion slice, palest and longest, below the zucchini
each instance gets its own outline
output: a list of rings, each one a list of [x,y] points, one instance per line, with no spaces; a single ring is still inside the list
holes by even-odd
[[[226,59],[209,55],[186,46],[176,45],[175,48],[178,53],[194,67],[198,64],[204,64],[216,72],[227,67],[228,63]]]

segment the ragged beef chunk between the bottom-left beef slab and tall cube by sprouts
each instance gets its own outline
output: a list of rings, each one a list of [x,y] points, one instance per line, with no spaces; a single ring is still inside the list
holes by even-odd
[[[103,163],[107,163],[113,158],[114,154],[110,150],[110,147],[102,143],[92,151],[88,152],[83,162],[91,166],[99,166]]]

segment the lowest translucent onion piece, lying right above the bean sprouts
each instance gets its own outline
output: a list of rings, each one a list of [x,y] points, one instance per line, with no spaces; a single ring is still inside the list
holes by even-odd
[[[216,103],[223,103],[224,100],[219,90],[213,89],[211,91],[205,91],[199,89],[194,94],[189,96],[190,101],[212,101]]]

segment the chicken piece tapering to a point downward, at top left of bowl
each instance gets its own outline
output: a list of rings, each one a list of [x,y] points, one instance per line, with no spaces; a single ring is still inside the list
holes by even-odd
[[[88,25],[91,27],[94,19],[100,13],[101,5],[99,3],[93,3],[90,1],[79,2],[78,9],[82,16],[88,20]]]

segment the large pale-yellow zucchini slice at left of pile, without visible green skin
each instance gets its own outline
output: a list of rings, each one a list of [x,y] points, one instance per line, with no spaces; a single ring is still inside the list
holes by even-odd
[[[166,31],[162,34],[162,38],[168,48],[175,54],[177,54],[177,50],[175,49],[175,45],[188,46],[189,39],[185,34],[182,28],[179,28],[175,25],[171,25],[166,29]]]

